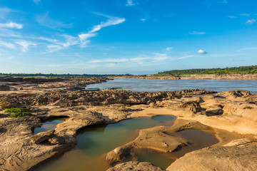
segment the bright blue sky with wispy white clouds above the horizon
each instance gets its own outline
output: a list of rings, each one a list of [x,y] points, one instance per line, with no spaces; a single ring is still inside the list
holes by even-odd
[[[257,64],[256,0],[0,0],[0,73]]]

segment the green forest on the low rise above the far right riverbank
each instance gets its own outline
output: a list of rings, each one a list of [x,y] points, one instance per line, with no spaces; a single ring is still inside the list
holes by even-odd
[[[239,66],[231,68],[211,68],[211,69],[188,69],[171,70],[159,72],[156,75],[191,75],[191,74],[226,74],[226,73],[257,73],[257,66]]]

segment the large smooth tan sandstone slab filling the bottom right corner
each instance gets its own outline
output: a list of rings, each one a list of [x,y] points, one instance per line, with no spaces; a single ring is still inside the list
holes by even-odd
[[[257,168],[257,147],[207,147],[189,152],[173,162],[170,171],[247,170]]]

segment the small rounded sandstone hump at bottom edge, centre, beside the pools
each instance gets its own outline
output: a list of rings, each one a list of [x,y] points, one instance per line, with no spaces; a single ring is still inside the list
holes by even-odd
[[[160,167],[156,167],[151,164],[151,162],[124,162],[115,167],[111,167],[106,171],[128,171],[128,170],[138,170],[138,171],[164,171]]]

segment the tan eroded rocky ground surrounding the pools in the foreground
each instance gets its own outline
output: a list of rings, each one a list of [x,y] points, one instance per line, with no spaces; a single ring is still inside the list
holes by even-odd
[[[106,160],[123,162],[134,148],[172,152],[187,141],[167,133],[199,129],[212,133],[220,142],[186,154],[167,170],[256,168],[257,95],[246,90],[215,94],[197,89],[155,93],[17,89],[1,91],[0,99],[0,170],[34,170],[74,147],[77,131],[86,126],[153,115],[175,115],[176,122],[141,130],[138,138],[106,154]],[[6,106],[29,108],[35,116],[7,118],[11,113],[4,113]],[[34,128],[43,120],[56,117],[67,119],[54,130],[34,135]],[[191,158],[191,162],[184,162]],[[161,170],[147,162],[126,162],[109,170],[144,169]]]

